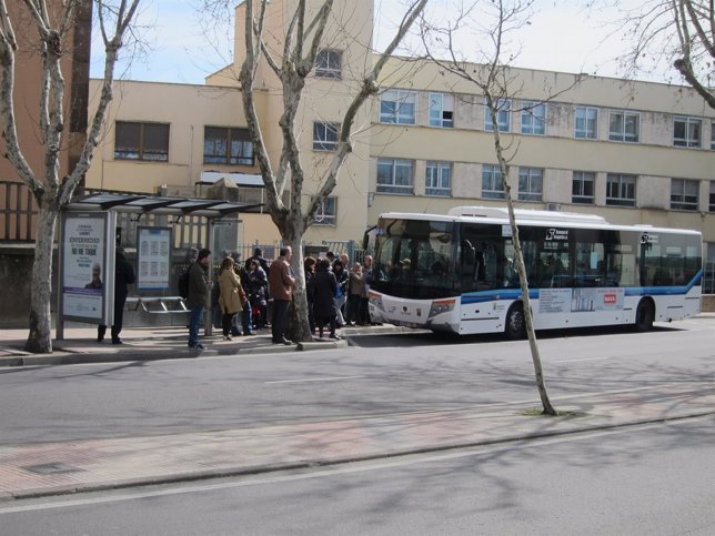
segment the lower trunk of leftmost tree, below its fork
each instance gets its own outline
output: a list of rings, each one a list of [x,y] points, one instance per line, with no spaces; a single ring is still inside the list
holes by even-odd
[[[34,354],[52,352],[52,287],[48,282],[52,279],[52,245],[59,213],[54,200],[40,203],[30,286],[30,332],[24,345],[27,352]],[[58,292],[61,292],[61,282],[58,282]]]

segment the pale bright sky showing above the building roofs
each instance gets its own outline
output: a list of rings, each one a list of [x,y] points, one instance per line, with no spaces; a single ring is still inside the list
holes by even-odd
[[[360,0],[355,0],[360,1]],[[391,21],[401,13],[403,0],[375,0],[376,36],[392,36]],[[444,0],[435,0],[436,2]],[[641,0],[622,0],[622,6]],[[201,21],[195,8],[200,0],[144,0],[141,29],[151,50],[131,64],[118,65],[117,78],[132,80],[203,83],[204,77],[228,64],[231,58],[231,21]],[[608,22],[617,18],[613,10],[596,13],[578,8],[576,0],[536,0],[531,24],[513,34],[522,44],[514,62],[517,67],[564,72],[587,72],[606,77],[618,75],[615,58],[626,43],[614,37]],[[207,38],[208,26],[213,38]],[[100,43],[92,49],[91,73],[101,77],[103,58]],[[645,77],[643,77],[645,78]],[[655,77],[655,80],[666,75]],[[651,77],[653,79],[653,77]]]

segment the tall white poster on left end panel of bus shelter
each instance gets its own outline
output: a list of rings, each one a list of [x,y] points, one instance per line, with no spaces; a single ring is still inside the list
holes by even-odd
[[[113,263],[108,251],[109,219],[104,212],[68,213],[62,222],[61,304],[62,316],[95,324],[107,323],[109,284]],[[112,234],[113,236],[113,234]],[[111,249],[113,253],[113,244]]]

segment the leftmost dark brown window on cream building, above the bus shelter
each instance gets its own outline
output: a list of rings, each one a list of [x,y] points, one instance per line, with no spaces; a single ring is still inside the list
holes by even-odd
[[[115,160],[169,161],[169,125],[117,121]]]

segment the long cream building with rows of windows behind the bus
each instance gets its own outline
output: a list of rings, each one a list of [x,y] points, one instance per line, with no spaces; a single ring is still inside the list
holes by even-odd
[[[271,2],[269,34],[284,34],[289,4]],[[215,178],[229,176],[244,195],[260,195],[234,75],[244,57],[241,10],[234,64],[205,84],[118,82],[89,188],[201,194]],[[298,115],[306,196],[316,191],[342,114],[375,59],[371,30],[372,2],[336,2]],[[271,49],[281,50],[280,42]],[[513,69],[510,78],[513,89],[494,125],[475,85],[426,60],[392,58],[381,93],[359,117],[339,185],[306,240],[360,240],[386,211],[503,204],[496,128],[518,206],[698,229],[715,260],[715,113],[693,90],[530,69]],[[92,81],[91,95],[97,87]],[[278,162],[282,91],[265,64],[254,94]],[[243,242],[278,240],[268,215],[242,220]]]

